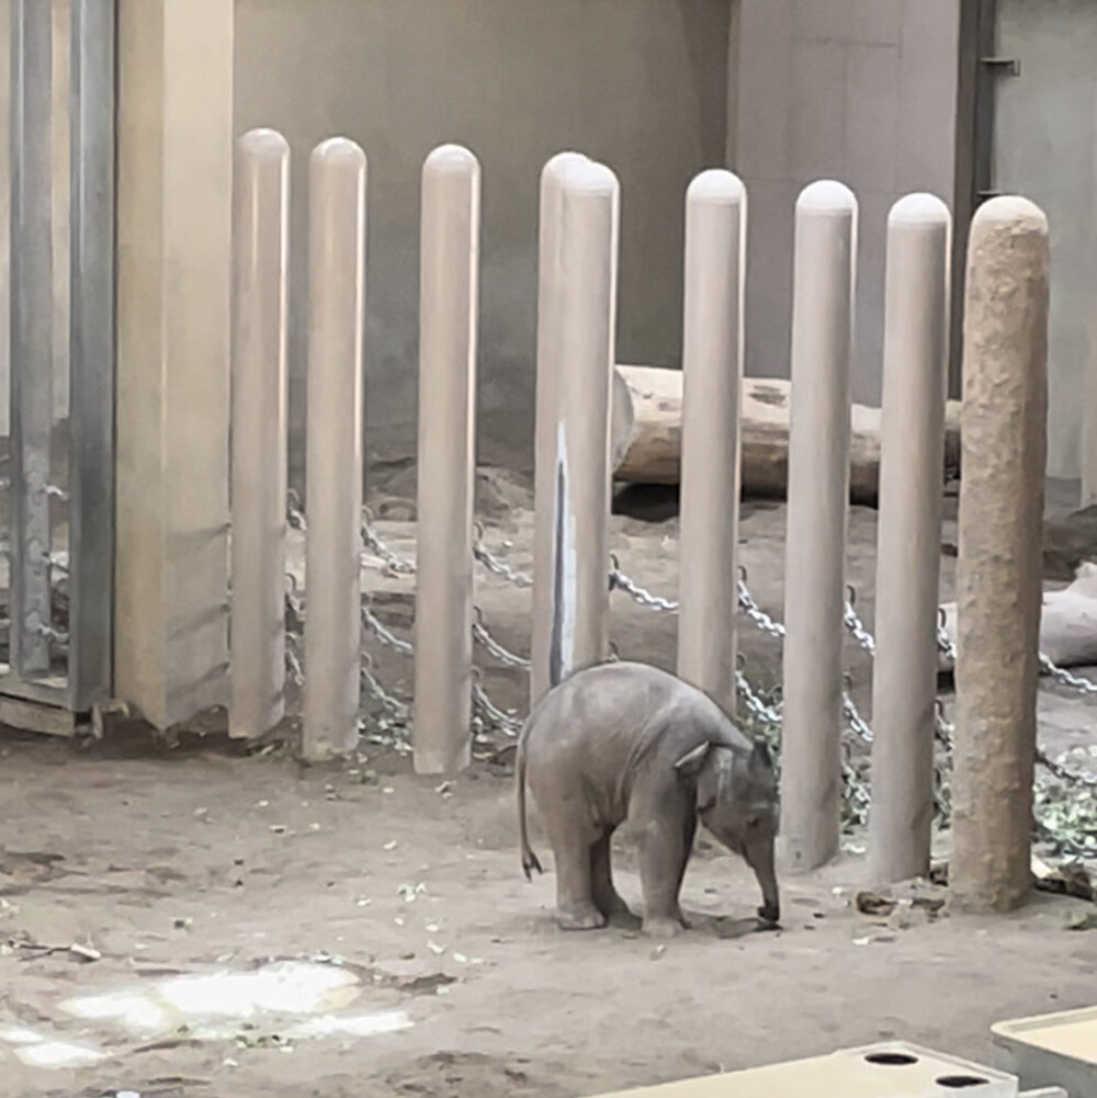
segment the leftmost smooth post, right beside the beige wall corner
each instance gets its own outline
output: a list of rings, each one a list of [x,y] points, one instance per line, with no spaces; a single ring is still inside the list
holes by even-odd
[[[232,701],[254,738],[284,712],[286,288],[290,147],[273,130],[236,146],[233,216]]]

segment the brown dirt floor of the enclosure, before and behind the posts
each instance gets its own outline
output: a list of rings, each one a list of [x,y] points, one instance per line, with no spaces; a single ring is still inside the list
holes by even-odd
[[[379,528],[405,552],[410,475],[389,470],[372,492]],[[528,569],[528,486],[485,472],[480,488],[485,544]],[[622,564],[672,597],[673,503],[648,493],[630,507],[645,517],[615,516]],[[850,524],[850,575],[870,623],[874,523],[855,508]],[[745,504],[743,562],[774,614],[783,526],[780,505]],[[942,542],[948,598],[951,520]],[[408,581],[363,574],[379,616],[406,635]],[[477,583],[492,632],[527,651],[528,592],[482,572]],[[673,618],[619,593],[613,605],[622,656],[672,665]],[[772,682],[773,642],[745,621],[740,636],[752,681]],[[380,649],[374,661],[406,696],[410,665]],[[490,695],[520,707],[520,675],[482,651],[478,662]],[[869,666],[852,643],[847,665],[867,714]],[[1043,691],[1045,742],[1097,742],[1093,712]],[[862,915],[851,904],[867,883],[854,834],[838,863],[783,879],[783,929],[757,933],[749,871],[702,837],[684,937],[657,945],[619,929],[566,934],[551,920],[551,859],[536,822],[548,872],[533,883],[520,872],[505,750],[444,782],[415,776],[389,749],[363,744],[352,763],[306,769],[288,750],[246,753],[215,735],[216,719],[210,727],[170,741],[120,728],[82,746],[0,735],[2,1098],[580,1098],[892,1038],[989,1062],[993,1021],[1095,1001],[1097,931],[1067,929],[1094,910],[1083,900],[1038,894],[993,919],[920,906]],[[627,841],[615,858],[620,890],[637,901]],[[943,896],[911,888],[895,895]],[[205,1016],[138,1023],[133,1004],[166,982],[279,959],[345,975],[321,1006],[336,1020],[355,1015],[360,1032],[333,1022],[327,1035],[302,1035],[304,993],[247,1015],[226,991]],[[108,993],[127,997],[130,1012],[66,1008]],[[210,1037],[219,1007],[220,1035]],[[51,1042],[100,1058],[26,1062]]]

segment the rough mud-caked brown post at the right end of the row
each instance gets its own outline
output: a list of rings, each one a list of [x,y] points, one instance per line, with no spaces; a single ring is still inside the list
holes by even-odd
[[[1048,448],[1048,220],[992,199],[972,220],[964,315],[952,903],[1009,911],[1031,887]]]

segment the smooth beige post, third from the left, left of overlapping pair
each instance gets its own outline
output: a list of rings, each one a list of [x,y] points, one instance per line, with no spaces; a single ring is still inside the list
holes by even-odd
[[[441,145],[423,165],[415,722],[418,774],[471,752],[480,165]]]

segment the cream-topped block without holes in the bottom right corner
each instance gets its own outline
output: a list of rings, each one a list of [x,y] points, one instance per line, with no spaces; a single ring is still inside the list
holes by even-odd
[[[990,1035],[996,1060],[1023,1086],[1097,1098],[1097,1007],[997,1022]]]

